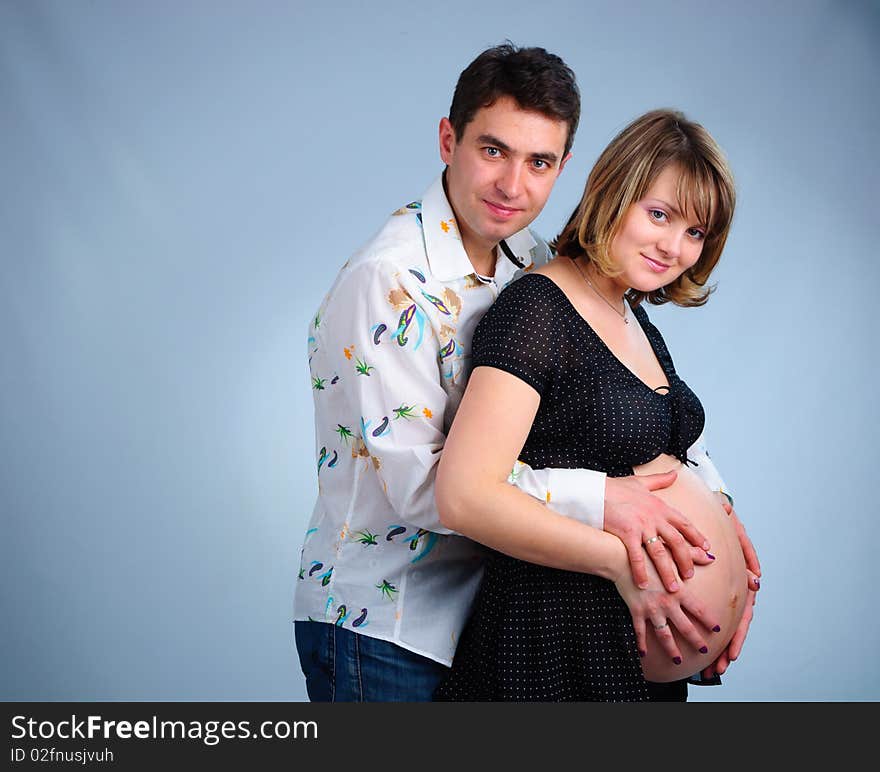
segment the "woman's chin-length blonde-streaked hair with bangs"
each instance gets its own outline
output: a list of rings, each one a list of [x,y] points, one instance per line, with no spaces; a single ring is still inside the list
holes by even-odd
[[[700,124],[675,110],[652,110],[621,131],[599,156],[577,209],[552,242],[560,255],[584,256],[605,276],[615,276],[611,242],[629,207],[639,201],[670,164],[681,169],[676,197],[706,229],[700,258],[674,282],[627,293],[634,304],[701,306],[714,287],[706,282],[721,257],[736,203],[733,174],[718,143]]]

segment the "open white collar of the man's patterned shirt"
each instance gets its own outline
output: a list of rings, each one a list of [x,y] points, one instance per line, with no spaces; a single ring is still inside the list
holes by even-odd
[[[443,189],[443,175],[434,180],[422,196],[422,228],[425,234],[425,253],[431,273],[440,281],[452,281],[474,273],[461,243],[461,236],[455,224],[455,214]],[[535,237],[528,228],[517,231],[505,239],[511,254],[522,265],[515,265],[504,253],[501,246],[496,247],[495,276],[497,281],[509,278],[522,267],[532,265],[531,250],[537,245]]]

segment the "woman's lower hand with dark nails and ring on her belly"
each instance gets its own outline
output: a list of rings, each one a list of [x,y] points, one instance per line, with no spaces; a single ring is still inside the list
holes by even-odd
[[[629,608],[642,657],[648,652],[648,625],[654,628],[657,640],[676,665],[681,664],[682,657],[672,635],[673,627],[697,651],[706,653],[709,649],[704,633],[688,615],[712,634],[721,632],[719,620],[694,596],[687,584],[674,593],[667,592],[656,571],[649,570],[647,589],[639,589],[628,568],[620,571],[614,584]]]

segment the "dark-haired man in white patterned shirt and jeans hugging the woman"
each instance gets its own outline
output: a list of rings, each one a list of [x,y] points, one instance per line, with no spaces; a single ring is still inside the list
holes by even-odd
[[[550,257],[528,226],[579,115],[559,57],[512,45],[480,54],[440,122],[443,175],[345,264],[310,325],[319,494],[295,626],[312,700],[430,700],[451,664],[481,549],[440,524],[436,463],[477,322],[518,271]],[[705,453],[691,458],[719,489]],[[647,553],[670,590],[673,563],[687,578],[710,561],[702,535],[650,495],[673,479],[520,464],[511,474],[558,512],[620,536],[638,583]]]

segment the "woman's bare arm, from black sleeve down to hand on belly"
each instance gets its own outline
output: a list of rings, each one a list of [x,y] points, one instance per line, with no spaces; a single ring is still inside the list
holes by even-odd
[[[718,622],[693,598],[687,583],[667,593],[652,571],[649,589],[639,590],[620,539],[557,515],[508,485],[507,476],[539,403],[538,392],[516,376],[492,367],[474,369],[437,470],[435,491],[443,525],[521,560],[615,582],[629,606],[642,651],[647,650],[646,625],[666,620],[695,648],[705,646],[684,611],[709,630]],[[658,638],[670,657],[681,656],[671,633]]]

